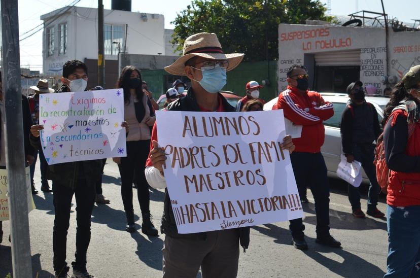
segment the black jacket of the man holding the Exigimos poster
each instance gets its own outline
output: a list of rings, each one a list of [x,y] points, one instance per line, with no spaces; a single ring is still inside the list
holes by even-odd
[[[60,92],[69,92],[69,89],[62,85],[57,93]],[[40,137],[30,134],[29,139],[33,147],[42,149]],[[94,186],[102,175],[102,163],[102,159],[95,159],[48,165],[47,179],[66,187],[76,188],[78,179],[85,178],[87,185]]]

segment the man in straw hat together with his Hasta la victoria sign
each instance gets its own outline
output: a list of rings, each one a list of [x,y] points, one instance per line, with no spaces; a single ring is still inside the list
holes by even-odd
[[[186,39],[184,55],[165,67],[192,86],[158,114],[145,170],[151,186],[168,186],[164,277],[195,277],[200,266],[203,277],[235,277],[239,241],[248,248],[249,226],[302,217],[283,113],[266,116],[279,121],[271,131],[261,112],[220,113],[235,111],[219,91],[242,58],[224,54],[216,34],[197,33]]]

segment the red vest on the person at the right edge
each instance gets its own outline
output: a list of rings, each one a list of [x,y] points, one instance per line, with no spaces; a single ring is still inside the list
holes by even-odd
[[[391,123],[391,126],[393,126],[397,117],[404,117],[404,121],[406,121],[407,113],[402,110],[397,110],[393,112],[391,116],[393,116],[393,121]],[[389,127],[388,124],[386,127]],[[408,137],[405,155],[410,157],[419,157],[420,123],[417,122],[413,128],[413,133]],[[385,136],[384,140],[387,140]],[[389,165],[389,167],[391,168],[391,165]],[[420,172],[402,172],[391,170],[387,203],[393,206],[420,205]]]

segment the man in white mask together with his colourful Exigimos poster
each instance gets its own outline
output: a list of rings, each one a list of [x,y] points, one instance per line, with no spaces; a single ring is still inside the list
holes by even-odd
[[[56,277],[67,277],[66,236],[73,195],[76,196],[76,260],[73,276],[93,277],[86,270],[90,218],[95,183],[102,175],[102,159],[125,156],[127,123],[123,122],[122,91],[84,92],[87,67],[79,60],[63,65],[63,85],[57,93],[40,97],[40,124],[31,127],[33,146],[42,148],[53,181],[53,251]]]

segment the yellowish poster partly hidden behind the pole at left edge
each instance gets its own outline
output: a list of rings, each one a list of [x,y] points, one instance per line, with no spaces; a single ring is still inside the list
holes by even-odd
[[[35,203],[32,199],[32,191],[30,189],[30,173],[29,167],[25,169],[26,173],[26,197],[28,200],[28,212],[35,209]],[[9,220],[9,190],[8,175],[6,169],[0,169],[0,221]]]

